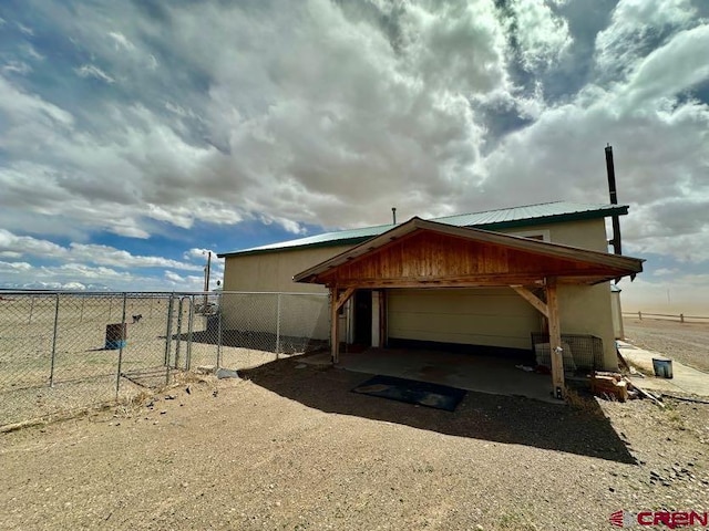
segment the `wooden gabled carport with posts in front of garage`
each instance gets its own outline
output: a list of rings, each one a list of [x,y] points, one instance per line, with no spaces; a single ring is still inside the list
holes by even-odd
[[[641,270],[643,260],[636,258],[412,218],[294,280],[330,291],[332,363],[339,362],[338,312],[357,290],[510,288],[548,323],[553,391],[561,398],[565,386],[559,285],[594,285],[635,278]],[[379,309],[383,345],[387,312],[383,304]]]

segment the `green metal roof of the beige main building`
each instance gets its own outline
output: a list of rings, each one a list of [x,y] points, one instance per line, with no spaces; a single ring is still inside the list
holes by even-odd
[[[446,216],[443,218],[431,219],[431,221],[452,225],[454,227],[475,227],[485,230],[501,230],[543,223],[606,218],[613,215],[624,216],[626,214],[628,214],[628,207],[625,205],[593,205],[556,201],[544,202],[541,205],[528,205],[524,207],[503,208],[499,210],[487,210],[484,212]],[[308,236],[297,240],[269,243],[267,246],[225,252],[217,256],[219,258],[224,258],[289,249],[357,244],[379,236],[393,227],[394,225],[390,223],[379,225],[377,227],[364,227],[361,229],[340,230],[337,232],[325,232],[322,235]]]

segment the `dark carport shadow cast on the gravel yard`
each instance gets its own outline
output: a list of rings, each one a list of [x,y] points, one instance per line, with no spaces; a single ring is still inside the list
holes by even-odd
[[[353,387],[372,377],[371,374],[301,365],[297,358],[280,360],[239,371],[239,374],[280,396],[326,413],[637,464],[596,400],[590,398],[583,400],[583,407],[572,407],[469,391],[456,410],[449,413],[351,393]]]

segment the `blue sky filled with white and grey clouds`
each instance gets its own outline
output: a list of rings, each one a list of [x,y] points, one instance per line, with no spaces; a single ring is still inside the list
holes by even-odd
[[[706,0],[3,0],[0,287],[198,289],[205,250],[392,206],[607,202],[610,143],[647,259],[626,306],[709,314],[708,21]]]

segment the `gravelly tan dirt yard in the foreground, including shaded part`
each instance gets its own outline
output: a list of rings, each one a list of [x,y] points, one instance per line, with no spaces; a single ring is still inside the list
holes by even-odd
[[[455,413],[282,360],[0,435],[0,529],[613,529],[709,510],[709,405],[469,393]]]

